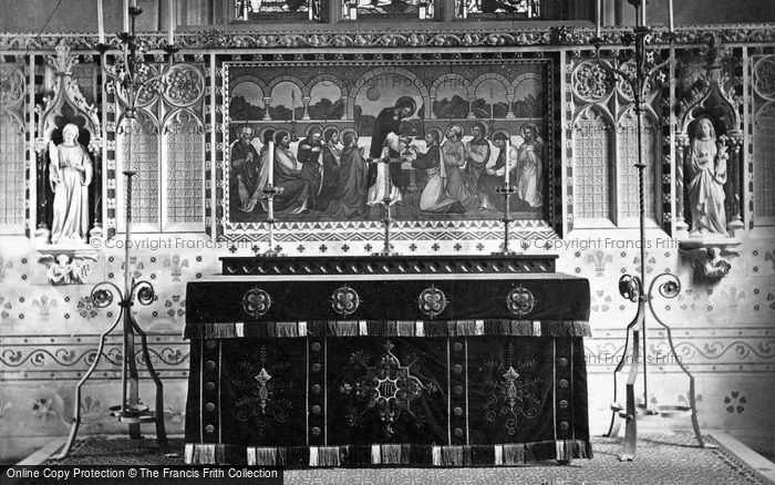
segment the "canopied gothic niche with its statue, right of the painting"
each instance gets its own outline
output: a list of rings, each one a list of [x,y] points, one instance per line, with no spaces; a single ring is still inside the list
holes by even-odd
[[[733,238],[744,228],[742,52],[716,39],[679,66],[678,229]]]

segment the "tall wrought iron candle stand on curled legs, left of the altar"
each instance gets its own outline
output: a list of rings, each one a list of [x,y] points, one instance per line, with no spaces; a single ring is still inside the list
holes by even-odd
[[[136,42],[137,38],[135,35],[135,20],[142,12],[142,9],[130,7],[128,14],[131,17],[131,31],[118,34],[118,39],[124,44],[123,64],[120,66],[116,73],[110,73],[106,71],[107,75],[116,81],[126,91],[125,112],[118,118],[117,124],[121,124],[125,118],[132,120],[135,117],[135,103],[144,91],[159,90],[163,87],[161,78],[148,74],[151,71],[148,71],[147,65],[143,63],[142,55],[137,54],[138,47]],[[104,56],[107,48],[104,44],[99,44],[97,50]],[[168,45],[165,48],[165,51],[169,54],[172,62],[172,54],[175,52],[175,48],[173,45]],[[103,66],[104,65],[105,63],[103,62]],[[127,166],[127,169],[125,169],[123,174],[126,177],[124,290],[122,291],[111,281],[103,281],[92,288],[91,292],[91,298],[96,307],[105,308],[117,299],[121,310],[118,311],[118,316],[113,324],[100,336],[100,347],[94,355],[92,365],[75,386],[75,399],[73,404],[74,410],[72,424],[70,426],[70,435],[68,436],[68,441],[60,453],[52,456],[53,460],[62,460],[66,457],[72,450],[73,443],[75,442],[75,436],[78,435],[79,426],[81,425],[81,388],[83,388],[83,384],[85,384],[89,378],[91,378],[91,375],[94,373],[94,370],[103,357],[105,338],[118,326],[120,321],[123,322],[121,370],[122,393],[121,403],[110,407],[111,415],[117,417],[120,422],[128,424],[130,437],[132,440],[138,440],[142,437],[140,434],[141,424],[155,423],[156,441],[158,442],[159,448],[162,450],[162,453],[169,454],[167,433],[164,427],[164,386],[151,361],[147,337],[132,314],[132,307],[134,306],[135,300],[140,305],[148,306],[156,299],[156,293],[154,291],[154,287],[148,281],[135,281],[130,269],[130,248],[132,246],[132,177],[136,174],[136,172],[132,171],[131,167]],[[148,410],[148,406],[143,404],[140,400],[140,374],[137,373],[137,363],[135,362],[135,339],[137,336],[141,338],[143,363],[147,368],[148,374],[156,386],[155,411]]]

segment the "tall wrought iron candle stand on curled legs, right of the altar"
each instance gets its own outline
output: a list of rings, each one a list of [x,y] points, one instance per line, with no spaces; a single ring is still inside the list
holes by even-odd
[[[639,229],[640,229],[640,265],[638,268],[638,276],[623,275],[619,279],[619,292],[622,297],[627,298],[632,302],[638,303],[638,311],[632,321],[627,326],[627,337],[624,340],[624,350],[619,361],[619,364],[613,370],[613,402],[611,403],[611,424],[608,430],[608,436],[616,436],[619,433],[620,422],[617,416],[624,419],[624,450],[619,456],[620,461],[632,461],[636,456],[636,448],[638,443],[638,414],[650,414],[650,415],[669,415],[680,412],[691,412],[692,416],[692,427],[694,430],[694,436],[700,443],[701,447],[705,446],[705,442],[700,433],[700,424],[698,422],[696,415],[696,401],[694,395],[694,376],[689,372],[689,370],[681,363],[681,359],[675,352],[675,345],[673,344],[672,333],[670,327],[664,323],[655,313],[653,308],[653,290],[654,285],[658,280],[666,278],[668,281],[659,286],[659,292],[664,298],[675,298],[681,292],[681,281],[674,275],[664,272],[658,275],[651,280],[649,285],[649,290],[644,291],[645,287],[645,204],[644,204],[644,184],[643,184],[643,171],[647,165],[643,161],[643,100],[645,97],[645,89],[650,74],[661,68],[661,65],[653,66],[653,60],[647,54],[647,43],[652,35],[652,29],[645,25],[645,0],[628,0],[630,4],[636,9],[637,25],[632,32],[627,32],[623,35],[624,47],[634,47],[634,72],[624,72],[620,69],[616,69],[607,65],[600,61],[600,47],[602,40],[600,38],[592,39],[592,44],[596,48],[598,63],[602,69],[604,69],[612,81],[620,79],[622,82],[627,83],[633,94],[634,112],[638,117],[638,163],[636,168],[638,168],[638,200],[639,200]],[[672,33],[669,35],[672,44]],[[627,54],[623,54],[627,55]],[[670,62],[674,55],[672,53],[666,62]],[[689,376],[689,406],[654,406],[649,409],[649,393],[648,393],[648,361],[647,358],[647,303],[648,311],[653,317],[653,319],[659,323],[668,334],[668,343],[670,344],[670,357],[675,359],[675,362],[681,368],[681,371]],[[632,355],[628,357],[628,349],[630,345],[630,334],[632,334]],[[640,355],[642,341],[643,355]],[[618,402],[618,386],[617,386],[617,374],[624,368],[624,363],[631,360],[630,369],[627,378],[626,386],[626,405],[621,405]],[[638,405],[636,403],[636,379],[638,376],[638,363],[639,360],[643,362],[643,403]]]

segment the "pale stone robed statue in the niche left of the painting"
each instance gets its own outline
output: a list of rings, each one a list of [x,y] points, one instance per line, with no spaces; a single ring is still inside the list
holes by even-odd
[[[51,241],[85,244],[89,236],[89,185],[92,161],[78,143],[79,128],[69,123],[62,130],[63,142],[49,142],[49,182],[54,193]]]

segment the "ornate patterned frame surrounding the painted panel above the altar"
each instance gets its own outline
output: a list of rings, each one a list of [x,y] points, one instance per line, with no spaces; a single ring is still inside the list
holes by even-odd
[[[250,61],[246,61],[246,60]],[[547,168],[546,168],[546,207],[541,219],[514,220],[510,224],[515,238],[529,240],[530,247],[540,247],[546,241],[546,248],[551,241],[561,238],[562,228],[562,196],[561,196],[561,149],[560,149],[560,71],[559,58],[554,53],[442,53],[416,52],[411,54],[390,53],[352,53],[352,54],[316,54],[314,59],[299,55],[249,53],[235,55],[217,55],[216,58],[216,106],[213,112],[216,126],[216,158],[215,187],[216,215],[215,236],[218,241],[232,245],[250,245],[268,240],[268,225],[265,221],[232,223],[228,220],[229,194],[226,168],[229,164],[229,68],[257,65],[269,68],[282,63],[283,66],[337,63],[338,65],[428,65],[437,64],[485,64],[493,61],[514,63],[542,63],[547,68]],[[428,118],[428,121],[432,121]],[[504,235],[504,223],[497,219],[468,220],[396,220],[391,226],[391,239],[401,242],[430,241],[498,241]],[[384,226],[379,220],[360,221],[277,221],[273,226],[276,244],[306,244],[328,241],[381,241],[384,238]],[[538,241],[538,242],[536,242]],[[528,248],[523,248],[528,249]],[[232,251],[236,246],[232,246]],[[254,246],[258,250],[258,246]]]

